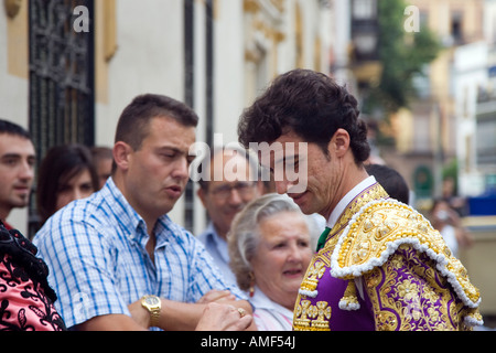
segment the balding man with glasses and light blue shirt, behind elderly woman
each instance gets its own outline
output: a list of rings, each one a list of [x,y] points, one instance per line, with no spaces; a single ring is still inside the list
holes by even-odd
[[[251,200],[261,195],[262,184],[258,181],[258,165],[245,150],[235,148],[214,149],[200,165],[204,169],[201,172],[204,178],[198,181],[197,195],[211,222],[198,235],[198,239],[226,279],[236,284],[229,268],[227,234],[236,214]]]

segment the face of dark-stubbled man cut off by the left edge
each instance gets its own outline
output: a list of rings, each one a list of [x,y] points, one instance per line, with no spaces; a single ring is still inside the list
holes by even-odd
[[[31,140],[0,133],[0,218],[24,207],[34,180],[35,152]]]

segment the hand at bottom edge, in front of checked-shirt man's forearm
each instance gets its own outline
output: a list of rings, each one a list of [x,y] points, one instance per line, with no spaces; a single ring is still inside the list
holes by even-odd
[[[211,302],[203,311],[195,331],[242,331],[248,329],[252,320],[242,309]]]

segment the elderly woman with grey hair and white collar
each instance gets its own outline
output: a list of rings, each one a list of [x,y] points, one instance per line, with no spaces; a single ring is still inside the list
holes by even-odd
[[[227,237],[230,267],[260,331],[291,330],[317,236],[314,218],[287,195],[266,194],[236,215]]]

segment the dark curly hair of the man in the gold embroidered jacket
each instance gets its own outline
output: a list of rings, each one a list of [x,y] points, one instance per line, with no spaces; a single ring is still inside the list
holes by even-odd
[[[293,69],[277,77],[247,108],[238,124],[239,142],[273,142],[294,132],[305,142],[316,143],[325,154],[337,129],[349,133],[355,162],[370,154],[367,126],[358,119],[357,100],[333,78],[310,69]]]

